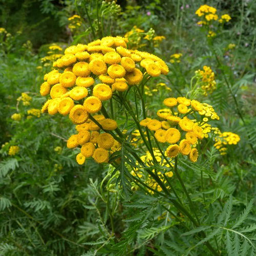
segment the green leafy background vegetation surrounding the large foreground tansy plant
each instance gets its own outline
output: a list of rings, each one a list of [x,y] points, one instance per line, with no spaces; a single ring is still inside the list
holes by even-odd
[[[95,3],[101,6],[100,19]],[[138,0],[117,4],[0,1],[0,27],[6,30],[0,32],[1,255],[212,255],[205,242],[219,255],[254,255],[256,3]],[[208,38],[206,29],[197,25],[195,11],[202,4],[231,16],[216,30],[215,38]],[[74,14],[80,15],[79,26],[69,19]],[[77,151],[66,147],[74,131],[69,120],[28,112],[41,109],[45,101],[39,88],[54,54],[105,35],[124,36],[136,30],[134,26],[144,32],[130,37],[130,47],[160,56],[170,68],[168,76],[152,83],[147,92],[152,99],[146,106],[148,113],[162,108],[166,97],[185,96],[195,71],[209,66],[217,89],[200,96],[200,101],[211,104],[220,116],[212,126],[241,139],[222,155],[212,134],[198,163],[180,166],[204,223],[198,228],[164,198],[133,183],[133,193],[126,196],[116,183],[117,175],[111,177],[111,165],[90,159],[78,165]],[[158,35],[165,38],[153,40]],[[52,45],[62,50],[49,50]],[[182,54],[178,62],[171,61],[175,53]],[[159,82],[170,90],[158,89]],[[153,88],[157,96],[151,94]],[[20,98],[22,93],[30,99]],[[11,118],[14,113],[21,115],[20,120]],[[175,176],[172,180],[180,201],[188,204]],[[206,235],[199,239],[202,231]]]

